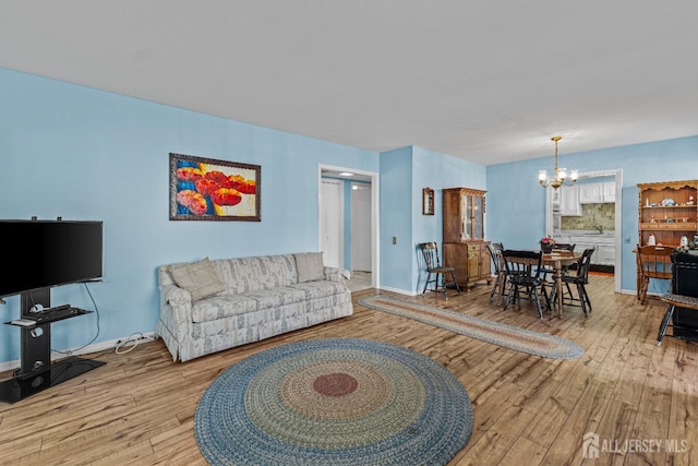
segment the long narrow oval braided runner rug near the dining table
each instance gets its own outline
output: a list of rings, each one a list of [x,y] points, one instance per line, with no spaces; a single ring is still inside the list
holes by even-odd
[[[585,350],[574,342],[546,333],[465,315],[401,299],[372,296],[360,298],[361,306],[446,328],[461,335],[551,359],[577,359]]]

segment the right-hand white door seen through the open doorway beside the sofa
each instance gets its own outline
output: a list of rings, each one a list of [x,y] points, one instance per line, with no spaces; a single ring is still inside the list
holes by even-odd
[[[371,272],[371,184],[351,184],[351,270]]]

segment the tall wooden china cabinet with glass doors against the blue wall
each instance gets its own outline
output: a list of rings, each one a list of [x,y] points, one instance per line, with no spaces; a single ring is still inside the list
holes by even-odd
[[[484,240],[484,194],[470,188],[445,189],[443,199],[444,265],[456,270],[458,285],[470,289],[492,280],[490,252]]]

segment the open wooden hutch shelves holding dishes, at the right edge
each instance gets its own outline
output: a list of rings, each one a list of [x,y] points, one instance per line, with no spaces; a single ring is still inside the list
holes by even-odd
[[[638,238],[677,247],[682,236],[698,234],[698,180],[638,184]]]

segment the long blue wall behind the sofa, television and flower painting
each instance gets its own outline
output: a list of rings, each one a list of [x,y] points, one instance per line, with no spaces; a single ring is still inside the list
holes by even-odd
[[[160,264],[316,251],[318,164],[378,171],[375,152],[5,69],[0,101],[0,218],[104,220],[97,343],[154,330]],[[261,165],[262,222],[170,222],[170,152]],[[81,285],[52,300],[93,309]],[[19,299],[0,312],[17,318]],[[53,325],[53,347],[87,343],[95,322]],[[20,357],[19,334],[0,325],[0,361]]]

